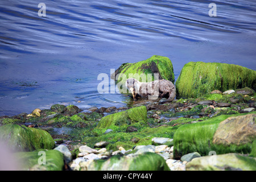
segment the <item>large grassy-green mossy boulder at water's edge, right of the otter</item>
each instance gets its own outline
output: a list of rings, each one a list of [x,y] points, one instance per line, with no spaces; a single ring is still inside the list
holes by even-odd
[[[189,62],[176,81],[177,98],[197,98],[212,90],[225,92],[245,87],[256,90],[256,71],[240,65]]]

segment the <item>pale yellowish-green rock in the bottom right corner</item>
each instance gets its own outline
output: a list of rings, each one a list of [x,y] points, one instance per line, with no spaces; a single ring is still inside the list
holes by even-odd
[[[239,154],[223,154],[195,158],[186,165],[187,171],[255,171],[256,160]]]

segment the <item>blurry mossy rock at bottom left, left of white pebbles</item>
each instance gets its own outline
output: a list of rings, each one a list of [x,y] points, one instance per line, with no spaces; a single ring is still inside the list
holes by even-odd
[[[57,150],[18,152],[16,156],[22,161],[24,171],[62,171],[64,169],[63,154]]]

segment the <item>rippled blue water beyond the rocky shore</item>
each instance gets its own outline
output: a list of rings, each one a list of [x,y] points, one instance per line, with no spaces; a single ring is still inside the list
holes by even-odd
[[[52,104],[125,106],[125,94],[100,94],[100,73],[167,56],[175,80],[189,61],[256,69],[256,2],[0,1],[0,115]],[[110,81],[110,80],[109,80]],[[81,101],[81,102],[77,102]]]

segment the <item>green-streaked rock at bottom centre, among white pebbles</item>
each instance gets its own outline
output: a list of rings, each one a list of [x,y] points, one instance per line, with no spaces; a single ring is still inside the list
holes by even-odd
[[[132,156],[115,155],[108,160],[94,160],[88,171],[170,171],[162,156],[146,152]]]

